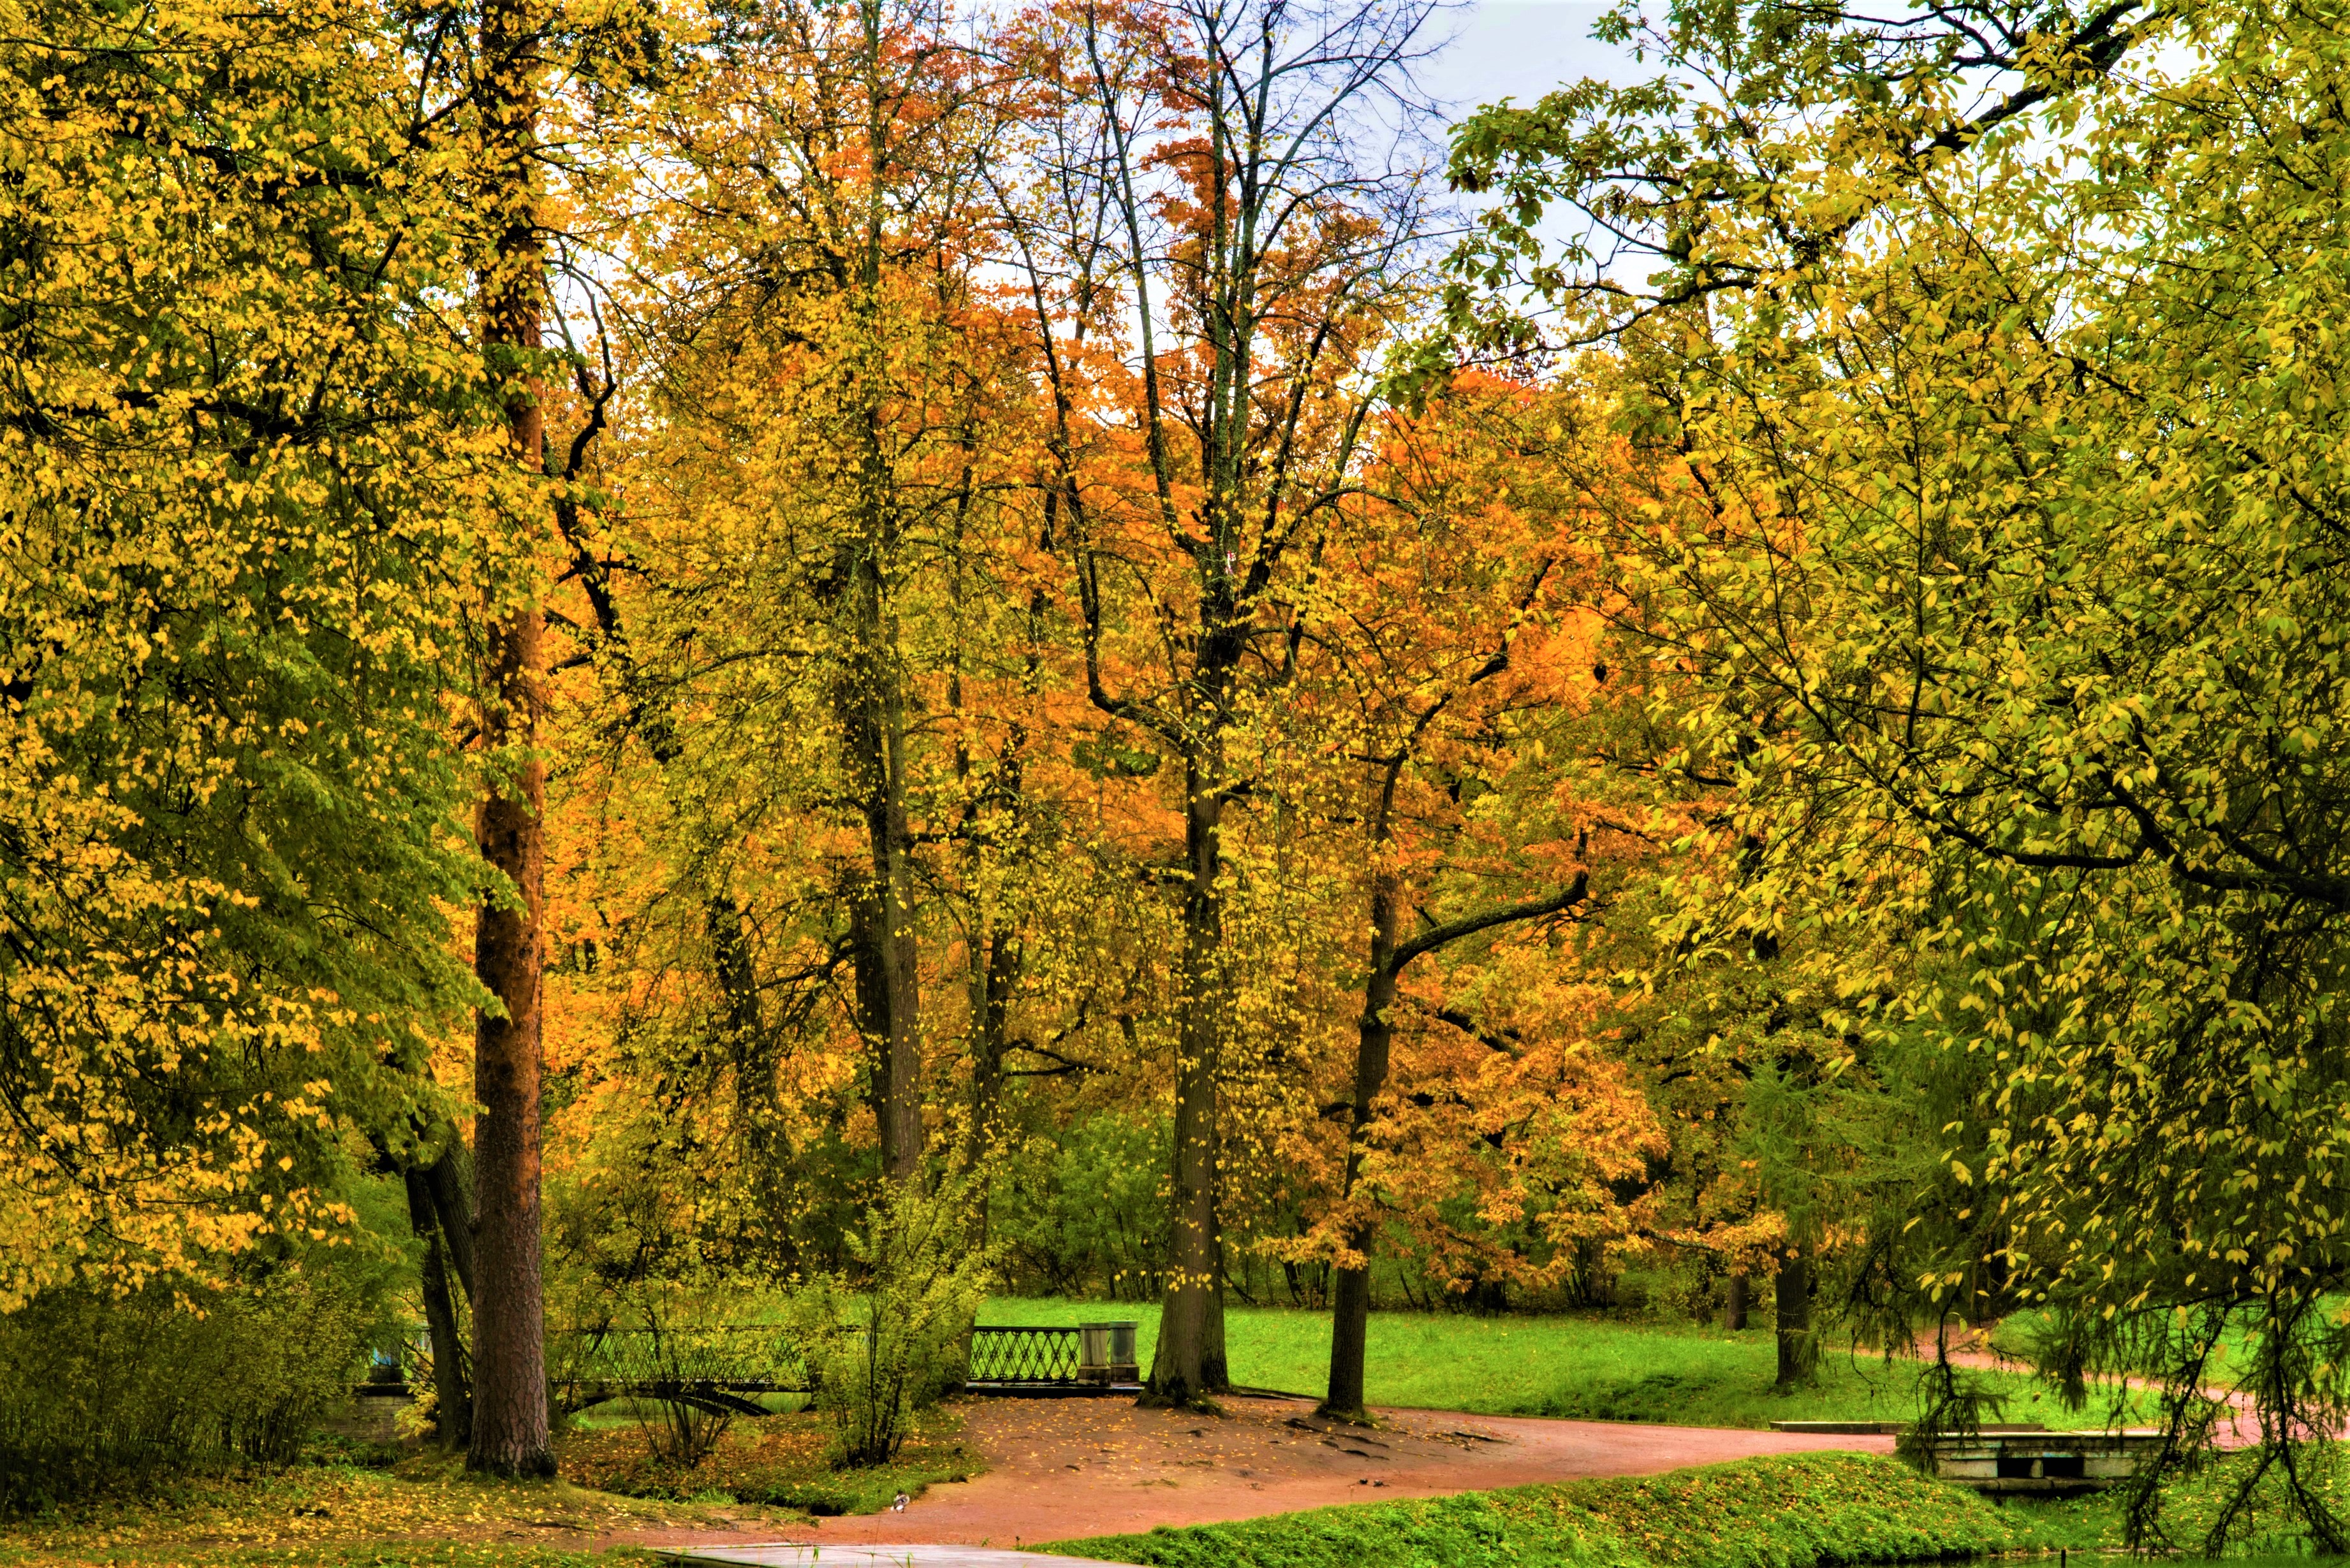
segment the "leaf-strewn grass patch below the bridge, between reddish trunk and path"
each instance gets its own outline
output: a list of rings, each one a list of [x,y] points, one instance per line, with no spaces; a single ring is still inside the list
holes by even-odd
[[[834,1469],[832,1422],[820,1415],[738,1420],[693,1469],[660,1462],[634,1422],[573,1432],[562,1444],[566,1481],[630,1498],[682,1502],[757,1502],[806,1514],[877,1514],[900,1491],[921,1495],[938,1481],[968,1481],[987,1469],[956,1434],[949,1411],[933,1413],[893,1465]]]

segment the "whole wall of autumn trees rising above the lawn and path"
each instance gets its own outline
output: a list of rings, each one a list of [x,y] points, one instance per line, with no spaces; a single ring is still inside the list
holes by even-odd
[[[1438,23],[19,5],[7,1333],[1767,1279],[2338,1549],[2343,16]]]

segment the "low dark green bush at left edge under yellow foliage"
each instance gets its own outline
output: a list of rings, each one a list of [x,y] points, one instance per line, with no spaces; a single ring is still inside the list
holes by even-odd
[[[155,1469],[287,1462],[350,1397],[381,1312],[334,1272],[181,1303],[54,1289],[0,1317],[0,1507],[87,1495]]]

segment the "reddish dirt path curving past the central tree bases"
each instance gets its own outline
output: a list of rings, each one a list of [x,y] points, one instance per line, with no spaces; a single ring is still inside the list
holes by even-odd
[[[1215,1418],[1137,1411],[1123,1399],[973,1401],[966,1441],[987,1455],[992,1469],[975,1481],[933,1486],[902,1514],[822,1519],[799,1528],[745,1521],[726,1535],[677,1530],[627,1540],[649,1547],[747,1540],[1013,1547],[1332,1502],[1638,1476],[1755,1453],[1894,1448],[1889,1437],[1443,1411],[1379,1411],[1382,1430],[1356,1432],[1309,1420],[1309,1401],[1231,1399],[1224,1408]]]

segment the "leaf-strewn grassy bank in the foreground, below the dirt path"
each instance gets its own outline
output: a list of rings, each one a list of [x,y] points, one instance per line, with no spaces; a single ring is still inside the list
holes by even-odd
[[[1039,1552],[1156,1568],[1828,1568],[2089,1547],[2089,1514],[1998,1507],[1864,1453],[1363,1502]]]

